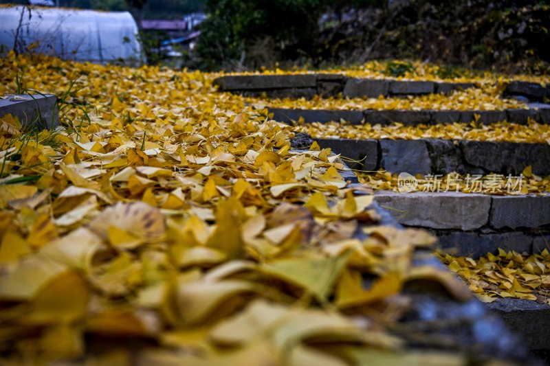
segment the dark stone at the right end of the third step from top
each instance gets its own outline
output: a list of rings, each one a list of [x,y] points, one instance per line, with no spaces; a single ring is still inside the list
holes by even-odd
[[[465,163],[486,172],[520,174],[527,165],[535,174],[550,174],[550,145],[497,141],[460,141]]]

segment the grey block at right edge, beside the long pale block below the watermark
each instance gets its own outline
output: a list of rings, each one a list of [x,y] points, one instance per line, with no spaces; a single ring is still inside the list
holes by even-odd
[[[549,225],[550,195],[494,196],[489,222],[496,229]]]

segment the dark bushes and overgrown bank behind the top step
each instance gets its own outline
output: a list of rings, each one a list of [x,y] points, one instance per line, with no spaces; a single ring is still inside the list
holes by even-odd
[[[207,0],[201,69],[322,67],[420,58],[461,67],[549,69],[547,1]]]

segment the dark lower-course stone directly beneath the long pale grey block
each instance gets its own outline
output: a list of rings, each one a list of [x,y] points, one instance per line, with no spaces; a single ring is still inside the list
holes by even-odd
[[[498,248],[518,253],[532,253],[533,238],[520,231],[507,233],[472,233],[451,231],[438,233],[439,248],[470,258],[479,258],[487,253],[497,253]]]

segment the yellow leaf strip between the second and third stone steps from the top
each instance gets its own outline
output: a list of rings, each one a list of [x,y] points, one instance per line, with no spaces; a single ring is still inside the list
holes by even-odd
[[[369,123],[351,125],[339,122],[327,124],[298,124],[301,132],[313,137],[344,139],[457,139],[474,141],[509,141],[550,144],[550,126],[532,120],[526,124],[498,122],[489,125],[471,122],[436,124],[433,126],[403,126],[393,123],[388,126]]]

